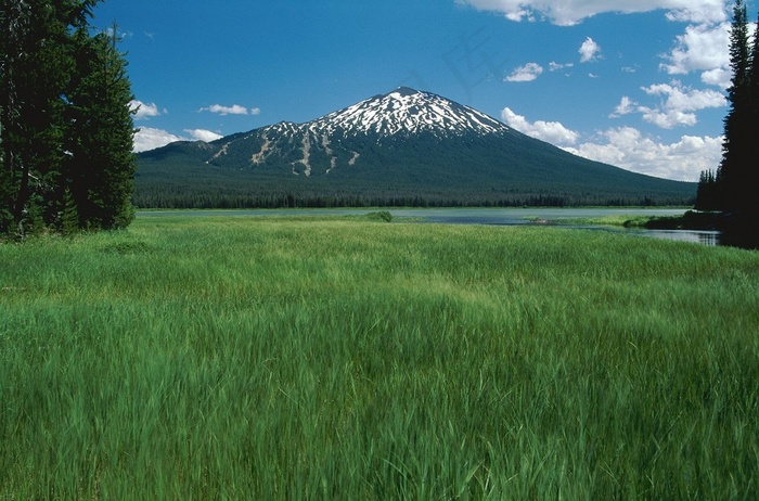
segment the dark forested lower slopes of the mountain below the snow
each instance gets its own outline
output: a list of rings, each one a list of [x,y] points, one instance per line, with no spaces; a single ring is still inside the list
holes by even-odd
[[[254,208],[363,206],[692,205],[695,183],[668,181],[590,162],[512,133],[413,141],[335,140],[335,166],[319,144],[306,176],[300,137],[260,165],[265,129],[213,143],[178,142],[138,155],[138,207]],[[294,146],[295,145],[295,146]],[[223,154],[220,154],[223,152]],[[350,154],[360,159],[350,164]],[[332,167],[332,168],[331,168]]]

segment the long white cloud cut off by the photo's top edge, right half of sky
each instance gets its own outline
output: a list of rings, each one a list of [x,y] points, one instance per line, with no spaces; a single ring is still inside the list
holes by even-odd
[[[671,21],[720,23],[726,17],[724,0],[456,0],[483,11],[500,12],[515,22],[548,20],[574,26],[603,13],[633,14],[666,10]]]

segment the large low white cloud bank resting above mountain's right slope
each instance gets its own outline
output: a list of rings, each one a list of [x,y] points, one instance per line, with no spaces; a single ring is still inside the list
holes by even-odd
[[[722,158],[722,138],[683,136],[666,144],[632,127],[602,132],[596,141],[566,151],[597,162],[680,181],[697,181],[700,172],[715,169]]]

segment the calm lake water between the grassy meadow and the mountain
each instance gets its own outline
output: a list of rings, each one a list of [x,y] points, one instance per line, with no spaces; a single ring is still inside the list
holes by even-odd
[[[377,210],[387,210],[397,218],[414,218],[422,222],[447,224],[496,224],[529,226],[545,224],[539,221],[561,221],[562,219],[601,218],[605,216],[625,216],[630,219],[639,216],[682,216],[685,209],[657,208],[334,208],[334,209],[232,209],[232,210],[160,210],[138,211],[137,217],[160,217],[172,215],[185,216],[298,216],[298,215],[362,215]],[[690,230],[645,230],[621,227],[599,227],[580,224],[561,224],[562,228],[577,228],[594,231],[610,231],[652,239],[693,242],[704,245],[719,245],[719,231]]]

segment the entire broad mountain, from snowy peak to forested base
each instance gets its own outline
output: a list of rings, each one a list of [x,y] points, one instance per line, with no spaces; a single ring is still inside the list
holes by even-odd
[[[306,124],[139,155],[142,206],[689,203],[694,183],[571,155],[472,107],[399,88]]]

